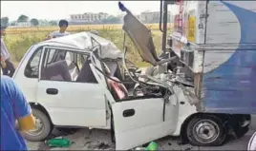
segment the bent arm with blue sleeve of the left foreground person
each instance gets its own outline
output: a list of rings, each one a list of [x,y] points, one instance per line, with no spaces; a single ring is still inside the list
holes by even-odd
[[[17,119],[16,128],[19,130],[32,130],[35,128],[35,121],[32,116],[31,105],[27,102],[24,94],[17,85],[14,84],[13,110]]]

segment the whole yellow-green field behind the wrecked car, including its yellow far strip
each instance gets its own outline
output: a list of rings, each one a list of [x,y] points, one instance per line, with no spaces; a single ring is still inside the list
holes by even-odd
[[[122,50],[122,44],[123,44],[123,31],[121,28],[102,28],[107,27],[107,25],[101,25],[101,28],[97,27],[97,30],[99,31],[99,35],[112,41],[114,44],[117,45],[117,47]],[[120,25],[118,25],[121,27]],[[117,27],[118,27],[117,26]],[[153,27],[156,25],[152,25]],[[22,59],[23,55],[26,53],[29,47],[32,45],[43,41],[47,35],[53,31],[56,30],[55,28],[9,28],[7,29],[7,34],[4,37],[4,41],[9,48],[9,51],[11,53],[11,60],[18,64],[20,60]],[[69,31],[72,33],[80,32],[80,31],[86,31],[96,29],[96,26],[94,28],[85,28],[85,27],[76,27],[76,30],[74,27],[69,27]],[[151,28],[152,29],[152,28]],[[160,43],[161,43],[161,34],[160,30],[152,29],[152,36],[155,43],[155,47],[160,52]],[[128,53],[127,58],[135,63],[138,66],[146,66],[147,64],[144,64],[141,62],[141,59],[139,57],[139,53],[134,47],[134,45],[131,43],[130,39],[127,38],[127,46],[128,46]]]

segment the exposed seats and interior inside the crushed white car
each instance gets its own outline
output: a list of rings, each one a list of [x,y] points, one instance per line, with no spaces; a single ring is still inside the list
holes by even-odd
[[[61,52],[61,51],[60,51]],[[63,51],[65,52],[65,51]],[[75,61],[67,59],[67,53],[55,53],[53,59],[46,64],[46,67],[42,67],[43,80],[51,81],[64,81],[64,82],[78,82],[78,83],[91,83],[97,84],[96,77],[91,69],[90,57],[87,57],[82,61],[82,66],[79,68]],[[128,93],[128,88],[122,83],[122,75],[117,67],[114,76],[111,76],[109,67],[101,62],[103,65],[103,73],[107,75],[106,83],[108,88],[117,102],[142,100],[150,98],[162,98],[162,91],[164,88],[157,88],[153,93],[146,93],[142,96],[131,96]],[[113,74],[112,74],[113,75]],[[110,77],[110,78],[108,78]],[[148,85],[148,84],[146,84]],[[154,86],[154,85],[153,85]]]

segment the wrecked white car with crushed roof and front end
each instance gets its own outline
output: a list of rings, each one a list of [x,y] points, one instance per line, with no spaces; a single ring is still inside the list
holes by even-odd
[[[141,82],[142,96],[129,95],[101,62],[120,55],[111,42],[90,32],[31,47],[13,75],[36,117],[37,128],[24,137],[43,141],[53,126],[104,128],[115,132],[117,149],[130,149],[180,135],[181,124],[196,108],[186,102],[179,86],[159,79],[154,82],[153,77],[148,84]]]

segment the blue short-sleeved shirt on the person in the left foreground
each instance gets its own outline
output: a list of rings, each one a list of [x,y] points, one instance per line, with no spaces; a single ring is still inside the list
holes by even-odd
[[[1,148],[28,150],[25,140],[15,129],[15,121],[32,113],[21,90],[8,76],[1,75]]]

